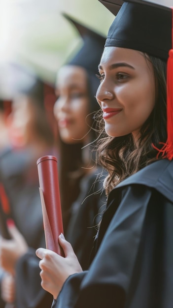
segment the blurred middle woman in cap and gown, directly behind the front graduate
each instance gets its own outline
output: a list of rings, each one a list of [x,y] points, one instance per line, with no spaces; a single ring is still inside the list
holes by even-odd
[[[79,32],[83,44],[57,73],[54,115],[59,131],[59,183],[64,232],[86,270],[98,212],[103,211],[105,201],[101,194],[103,177],[97,179],[102,169],[94,163],[97,134],[93,120],[99,108],[94,95],[99,86],[96,73],[105,38],[64,16]]]

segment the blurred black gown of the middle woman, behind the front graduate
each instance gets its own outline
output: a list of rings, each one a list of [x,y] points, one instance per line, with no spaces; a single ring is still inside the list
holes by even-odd
[[[83,270],[87,270],[97,225],[105,209],[106,197],[103,181],[106,173],[98,167],[86,175],[80,183],[80,195],[71,206],[66,232]]]

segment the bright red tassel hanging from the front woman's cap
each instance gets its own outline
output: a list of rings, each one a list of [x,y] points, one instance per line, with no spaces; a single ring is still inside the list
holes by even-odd
[[[157,158],[159,157],[159,154],[162,153],[162,156],[167,157],[169,160],[173,159],[173,22],[172,49],[169,51],[167,62],[167,142],[161,150],[156,148],[154,145],[153,148],[158,150]]]

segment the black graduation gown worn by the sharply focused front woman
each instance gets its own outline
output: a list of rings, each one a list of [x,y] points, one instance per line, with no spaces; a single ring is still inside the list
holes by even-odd
[[[173,161],[156,161],[110,192],[94,255],[52,307],[173,307]]]

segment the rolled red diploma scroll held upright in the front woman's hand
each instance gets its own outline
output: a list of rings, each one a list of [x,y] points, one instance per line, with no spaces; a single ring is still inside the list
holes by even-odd
[[[58,237],[63,233],[57,158],[42,156],[37,160],[39,191],[43,213],[46,248],[63,256]]]

